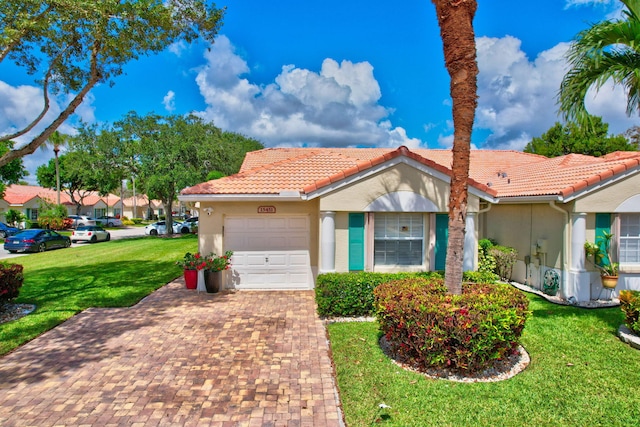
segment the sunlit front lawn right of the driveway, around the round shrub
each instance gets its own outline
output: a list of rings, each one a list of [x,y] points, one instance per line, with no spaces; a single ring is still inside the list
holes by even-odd
[[[498,383],[407,372],[380,350],[377,323],[329,325],[347,425],[639,426],[640,351],[616,336],[620,309],[529,298],[522,344],[531,363]]]

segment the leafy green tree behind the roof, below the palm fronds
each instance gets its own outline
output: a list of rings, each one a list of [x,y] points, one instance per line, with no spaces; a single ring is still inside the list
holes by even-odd
[[[609,125],[600,117],[591,118],[592,126],[580,126],[575,122],[565,125],[556,122],[540,137],[533,138],[524,147],[525,153],[547,157],[577,153],[604,156],[614,151],[635,151],[637,146],[622,135],[609,136]]]

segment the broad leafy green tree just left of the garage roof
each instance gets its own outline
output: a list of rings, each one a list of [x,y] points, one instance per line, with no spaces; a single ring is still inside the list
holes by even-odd
[[[130,112],[113,126],[99,131],[85,127],[80,134],[93,142],[74,149],[95,159],[94,173],[133,178],[149,198],[162,201],[169,233],[173,204],[182,188],[206,180],[213,171],[236,173],[247,151],[263,148],[256,140],[222,132],[193,115]]]

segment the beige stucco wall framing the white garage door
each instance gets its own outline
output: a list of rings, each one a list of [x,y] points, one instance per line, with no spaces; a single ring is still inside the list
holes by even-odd
[[[275,214],[258,214],[258,206],[274,206]],[[213,208],[211,215],[205,213],[205,208]],[[308,215],[310,227],[309,257],[311,266],[317,267],[319,246],[319,215],[318,202],[220,202],[200,203],[200,216],[198,220],[198,248],[202,253],[224,253],[223,244],[224,219],[227,216],[262,216],[262,215]]]

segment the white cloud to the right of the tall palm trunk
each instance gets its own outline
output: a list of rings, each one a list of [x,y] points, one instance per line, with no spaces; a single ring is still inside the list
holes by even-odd
[[[530,61],[514,37],[477,39],[476,127],[490,131],[485,148],[521,150],[532,137],[561,121],[556,101],[567,70],[564,54],[568,46],[560,43]],[[622,133],[636,124],[637,119],[626,117],[622,90],[612,91],[607,85],[589,98],[587,109],[602,116],[611,133]]]

